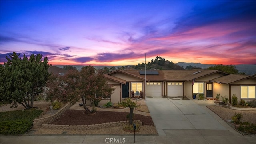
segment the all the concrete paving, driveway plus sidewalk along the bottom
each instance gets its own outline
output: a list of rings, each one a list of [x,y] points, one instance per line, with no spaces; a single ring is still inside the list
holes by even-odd
[[[256,144],[242,136],[205,107],[210,100],[146,98],[159,135],[136,135],[138,144]],[[1,144],[106,144],[134,143],[133,135],[22,135],[0,137]]]

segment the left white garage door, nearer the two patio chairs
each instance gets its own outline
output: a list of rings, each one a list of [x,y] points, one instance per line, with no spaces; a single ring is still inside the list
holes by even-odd
[[[147,82],[146,96],[162,96],[162,82]]]

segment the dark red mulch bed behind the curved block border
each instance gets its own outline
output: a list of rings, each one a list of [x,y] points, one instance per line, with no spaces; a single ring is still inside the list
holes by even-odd
[[[50,124],[56,125],[90,125],[102,124],[106,122],[118,122],[128,120],[126,115],[128,112],[110,112],[110,111],[97,111],[96,114],[87,115],[83,110],[66,110],[60,118],[51,122]],[[134,120],[142,121],[143,125],[154,126],[153,120],[150,116],[143,116],[134,114]]]

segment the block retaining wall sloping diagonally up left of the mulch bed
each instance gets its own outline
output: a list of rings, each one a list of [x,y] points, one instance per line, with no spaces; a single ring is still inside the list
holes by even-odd
[[[52,116],[34,119],[32,129],[41,128],[42,124],[48,124],[50,122],[53,122],[54,120],[58,119],[60,117],[60,115],[63,114],[66,110],[68,110],[71,106],[73,106],[72,103],[66,104],[56,114],[54,114]]]

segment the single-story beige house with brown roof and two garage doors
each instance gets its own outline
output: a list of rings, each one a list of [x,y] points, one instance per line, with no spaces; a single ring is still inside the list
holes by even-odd
[[[206,98],[215,98],[216,94],[238,99],[256,99],[256,77],[228,74],[220,70],[115,70],[105,75],[108,84],[116,90],[106,100],[118,103],[122,98],[131,97],[131,92],[141,92],[145,96],[187,96],[202,93]]]

